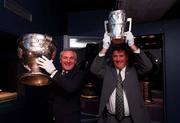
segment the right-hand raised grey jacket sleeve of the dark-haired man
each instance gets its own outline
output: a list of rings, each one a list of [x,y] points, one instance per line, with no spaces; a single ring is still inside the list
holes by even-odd
[[[141,50],[140,53],[134,53],[135,66],[139,75],[144,75],[152,69],[152,63],[146,54]]]

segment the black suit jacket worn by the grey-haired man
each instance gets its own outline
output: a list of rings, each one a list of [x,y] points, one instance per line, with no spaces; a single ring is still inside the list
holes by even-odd
[[[55,123],[80,123],[80,92],[84,72],[75,68],[68,74],[53,77],[53,112]]]

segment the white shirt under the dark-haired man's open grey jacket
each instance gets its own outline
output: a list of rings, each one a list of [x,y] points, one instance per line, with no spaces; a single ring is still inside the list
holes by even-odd
[[[122,81],[125,79],[125,72],[126,72],[126,67],[124,67],[121,70]],[[119,70],[117,70],[117,74],[118,73],[119,73]],[[125,116],[129,116],[129,114],[130,114],[129,105],[128,105],[128,100],[127,100],[127,97],[126,97],[126,92],[125,92],[124,89],[123,89],[123,97],[124,97],[124,113],[125,113]],[[110,114],[115,114],[116,113],[115,102],[116,102],[116,88],[112,92],[112,94],[111,94],[111,96],[109,98],[109,101],[106,103],[107,110],[108,110],[108,112]]]

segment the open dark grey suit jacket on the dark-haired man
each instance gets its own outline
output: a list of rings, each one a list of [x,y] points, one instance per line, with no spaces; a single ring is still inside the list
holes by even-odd
[[[150,60],[146,57],[143,51],[139,54],[134,54],[137,60],[137,65],[127,65],[124,90],[126,91],[130,113],[134,123],[147,123],[148,115],[144,107],[142,94],[137,73],[144,74],[152,68]],[[91,66],[92,73],[103,78],[102,94],[100,98],[99,116],[100,122],[106,118],[106,103],[113,90],[116,87],[117,73],[112,65],[106,65],[105,57],[96,56]]]

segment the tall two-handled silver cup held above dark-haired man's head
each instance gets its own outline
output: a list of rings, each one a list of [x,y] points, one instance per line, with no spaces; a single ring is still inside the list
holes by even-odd
[[[127,27],[127,23],[129,27]],[[124,41],[124,32],[131,31],[132,18],[126,19],[124,10],[111,11],[108,20],[104,21],[104,26],[113,43],[122,43]]]

